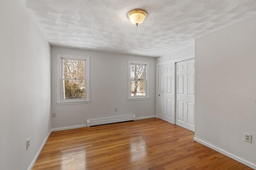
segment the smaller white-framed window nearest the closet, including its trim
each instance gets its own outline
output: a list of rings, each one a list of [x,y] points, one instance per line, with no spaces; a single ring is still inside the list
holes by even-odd
[[[129,61],[128,100],[148,99],[148,63]]]

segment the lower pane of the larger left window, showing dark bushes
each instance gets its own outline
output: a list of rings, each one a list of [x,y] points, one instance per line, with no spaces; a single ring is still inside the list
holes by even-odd
[[[85,97],[85,80],[63,80],[62,99],[82,99]]]

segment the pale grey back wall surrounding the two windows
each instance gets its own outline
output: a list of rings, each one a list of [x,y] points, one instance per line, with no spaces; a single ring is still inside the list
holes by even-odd
[[[57,54],[90,57],[89,104],[56,105]],[[149,62],[149,100],[128,101],[128,61]],[[104,53],[63,47],[51,48],[52,127],[85,125],[87,119],[135,114],[155,115],[155,58]],[[118,108],[118,112],[114,112]]]

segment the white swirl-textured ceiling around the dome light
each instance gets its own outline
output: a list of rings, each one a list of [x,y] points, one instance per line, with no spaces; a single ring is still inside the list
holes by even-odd
[[[51,45],[158,57],[256,15],[256,0],[20,0]],[[133,25],[127,13],[148,13]]]

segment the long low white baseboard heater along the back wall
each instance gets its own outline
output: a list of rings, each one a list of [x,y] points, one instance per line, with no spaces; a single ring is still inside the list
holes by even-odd
[[[117,123],[122,121],[131,121],[135,120],[135,115],[128,115],[128,116],[119,116],[119,117],[111,117],[106,119],[94,119],[94,120],[87,120],[87,127],[95,126],[95,125],[103,125],[108,123]]]

